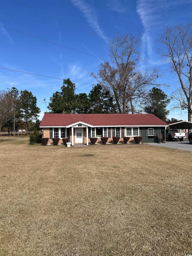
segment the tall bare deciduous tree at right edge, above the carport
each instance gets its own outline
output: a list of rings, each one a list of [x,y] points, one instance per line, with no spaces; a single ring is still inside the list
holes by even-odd
[[[191,23],[166,27],[159,42],[164,44],[158,53],[170,64],[170,71],[178,77],[179,85],[174,89],[173,98],[178,101],[176,108],[187,110],[188,121],[192,114],[192,30]]]

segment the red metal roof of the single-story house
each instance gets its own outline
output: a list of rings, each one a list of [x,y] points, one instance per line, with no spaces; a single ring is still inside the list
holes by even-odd
[[[62,127],[83,122],[93,126],[168,126],[152,114],[53,114],[45,113],[40,127]]]

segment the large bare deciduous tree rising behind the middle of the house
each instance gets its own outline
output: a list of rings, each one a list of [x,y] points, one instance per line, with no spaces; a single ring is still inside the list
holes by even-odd
[[[109,62],[101,63],[98,74],[91,73],[104,91],[114,97],[119,113],[138,113],[141,98],[161,76],[159,68],[140,70],[141,39],[133,35],[117,35],[109,44]]]

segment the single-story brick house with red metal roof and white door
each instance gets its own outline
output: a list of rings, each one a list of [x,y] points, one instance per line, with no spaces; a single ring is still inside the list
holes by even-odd
[[[156,142],[157,134],[161,134],[168,126],[167,123],[152,114],[53,114],[45,113],[40,123],[43,136],[49,138],[69,138],[74,144],[90,143],[91,137],[108,137],[107,143],[113,143],[112,137],[142,136],[143,143]]]

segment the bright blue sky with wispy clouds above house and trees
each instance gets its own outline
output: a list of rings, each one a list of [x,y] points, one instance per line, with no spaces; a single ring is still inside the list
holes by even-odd
[[[76,94],[90,92],[97,84],[90,73],[97,73],[101,61],[109,60],[108,41],[118,32],[141,35],[146,64],[166,70],[156,53],[157,38],[164,26],[191,22],[191,10],[192,0],[0,0],[0,67],[5,68],[0,69],[0,90],[31,91],[41,120],[63,79],[76,81]],[[166,72],[159,82],[170,86],[161,88],[170,96],[177,77]],[[168,117],[187,120],[187,113],[171,110]]]

